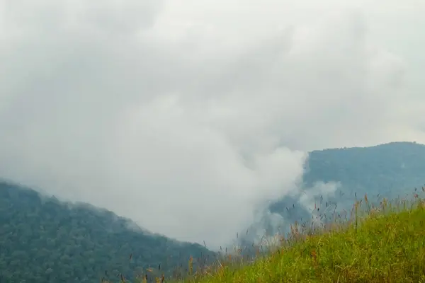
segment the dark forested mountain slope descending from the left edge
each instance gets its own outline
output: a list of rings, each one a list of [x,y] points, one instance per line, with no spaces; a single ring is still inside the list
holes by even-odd
[[[101,277],[116,282],[120,273],[135,277],[148,267],[171,275],[179,265],[184,272],[190,256],[207,255],[213,253],[203,246],[143,231],[107,210],[0,183],[0,282],[99,282]]]

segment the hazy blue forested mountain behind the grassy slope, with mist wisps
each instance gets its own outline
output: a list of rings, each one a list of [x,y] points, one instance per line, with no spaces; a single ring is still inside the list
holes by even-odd
[[[329,183],[336,190],[321,188]],[[392,142],[378,146],[311,151],[305,173],[302,176],[302,192],[288,195],[271,203],[271,212],[279,214],[285,224],[280,233],[289,231],[289,224],[305,222],[314,217],[324,222],[335,217],[349,215],[353,203],[368,195],[371,203],[378,204],[383,197],[412,197],[415,187],[421,190],[425,184],[425,145],[415,142]],[[310,207],[305,206],[306,200]],[[316,211],[312,212],[310,209]],[[345,210],[345,212],[344,212]],[[348,212],[348,214],[347,214]],[[344,215],[343,215],[344,214]],[[333,216],[332,216],[333,217]],[[266,219],[267,220],[267,219]],[[265,221],[264,229],[276,233]],[[247,244],[252,238],[245,238]]]

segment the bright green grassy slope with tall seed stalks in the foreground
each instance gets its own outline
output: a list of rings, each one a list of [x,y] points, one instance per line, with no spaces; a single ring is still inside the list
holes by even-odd
[[[425,282],[425,202],[415,193],[372,207],[365,196],[351,219],[315,231],[294,225],[254,263],[229,259],[186,282]]]

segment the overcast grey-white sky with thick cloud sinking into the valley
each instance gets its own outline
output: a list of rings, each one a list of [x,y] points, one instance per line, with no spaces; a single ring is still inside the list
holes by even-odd
[[[308,151],[425,143],[424,13],[0,0],[0,176],[217,248],[299,193]]]

